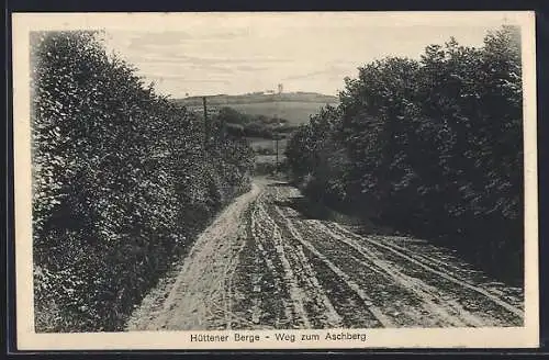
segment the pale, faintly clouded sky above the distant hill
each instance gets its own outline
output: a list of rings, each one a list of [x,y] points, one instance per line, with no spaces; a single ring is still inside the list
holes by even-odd
[[[498,21],[368,21],[334,16],[187,18],[173,26],[107,30],[107,45],[172,98],[255,91],[337,94],[345,77],[385,56],[418,58],[429,44],[481,46]]]

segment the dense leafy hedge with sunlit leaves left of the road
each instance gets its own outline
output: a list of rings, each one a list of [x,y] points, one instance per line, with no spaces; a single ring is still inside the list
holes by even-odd
[[[253,153],[145,87],[93,32],[33,33],[38,331],[116,330],[216,211]]]

